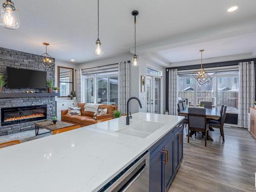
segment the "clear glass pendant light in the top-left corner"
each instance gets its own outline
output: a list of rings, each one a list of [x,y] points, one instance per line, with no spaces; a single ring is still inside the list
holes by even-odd
[[[0,25],[7,29],[19,28],[19,17],[14,3],[11,0],[6,0],[0,10]]]

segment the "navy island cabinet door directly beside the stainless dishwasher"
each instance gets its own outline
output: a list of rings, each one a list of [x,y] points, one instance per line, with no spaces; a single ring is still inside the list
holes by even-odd
[[[150,192],[163,192],[162,190],[162,152],[150,161]]]

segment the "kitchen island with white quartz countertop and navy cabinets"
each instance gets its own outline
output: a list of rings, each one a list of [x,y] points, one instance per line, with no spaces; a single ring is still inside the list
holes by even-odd
[[[121,117],[2,148],[0,189],[98,191],[149,151],[150,191],[166,191],[183,158],[183,118],[136,113],[130,125]]]

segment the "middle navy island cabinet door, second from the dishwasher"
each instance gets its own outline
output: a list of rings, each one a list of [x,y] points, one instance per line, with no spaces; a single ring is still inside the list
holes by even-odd
[[[174,179],[174,137],[163,148],[163,184],[167,191]]]

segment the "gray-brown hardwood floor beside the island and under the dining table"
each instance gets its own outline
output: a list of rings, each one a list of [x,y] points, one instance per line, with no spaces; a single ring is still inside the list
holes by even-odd
[[[187,127],[185,127],[185,134]],[[246,130],[224,127],[225,142],[219,129],[207,141],[199,134],[184,137],[184,159],[168,192],[174,191],[255,191],[256,140]]]

